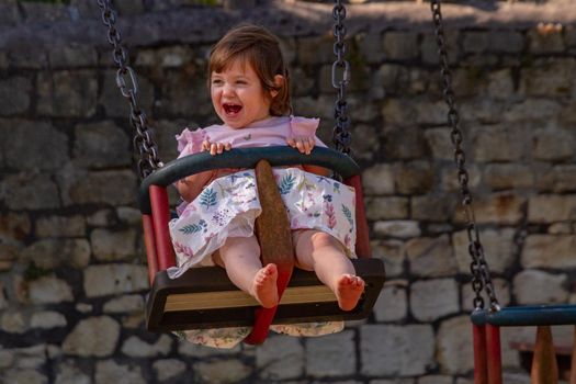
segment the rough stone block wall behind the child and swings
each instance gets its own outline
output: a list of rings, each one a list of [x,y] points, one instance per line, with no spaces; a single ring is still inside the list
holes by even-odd
[[[162,159],[183,126],[214,122],[206,52],[242,20],[281,36],[295,111],[323,117],[329,142],[330,5],[200,3],[118,1]],[[487,2],[444,16],[500,303],[576,303],[576,11]],[[144,330],[132,132],[95,1],[0,4],[0,382],[472,383],[466,234],[428,5],[351,5],[348,20],[353,149],[387,283],[341,334],[213,350]],[[509,342],[532,337],[502,331],[506,383],[528,383]]]

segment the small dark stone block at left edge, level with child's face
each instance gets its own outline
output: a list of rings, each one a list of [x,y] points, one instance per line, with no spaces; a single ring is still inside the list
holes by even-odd
[[[0,115],[18,115],[27,112],[31,105],[32,82],[18,76],[0,80]]]

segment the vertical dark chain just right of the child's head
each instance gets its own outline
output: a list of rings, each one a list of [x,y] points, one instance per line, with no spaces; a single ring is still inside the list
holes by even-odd
[[[336,37],[336,42],[334,43],[334,54],[336,55],[336,61],[332,64],[332,87],[338,90],[338,97],[334,108],[336,126],[334,127],[332,139],[337,150],[349,155],[352,136],[348,131],[350,126],[350,117],[348,116],[346,87],[348,86],[348,82],[350,82],[350,64],[345,59],[346,26],[343,24],[343,20],[346,19],[346,7],[342,4],[342,1],[334,1],[332,16],[335,20],[332,33]],[[342,74],[340,79],[337,80],[338,68],[340,68]]]

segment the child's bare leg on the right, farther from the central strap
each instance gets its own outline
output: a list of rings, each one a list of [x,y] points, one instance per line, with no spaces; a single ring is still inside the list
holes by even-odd
[[[355,275],[354,267],[342,245],[332,236],[306,229],[293,233],[297,266],[316,272],[338,298],[342,310],[352,310],[364,291],[364,281]]]

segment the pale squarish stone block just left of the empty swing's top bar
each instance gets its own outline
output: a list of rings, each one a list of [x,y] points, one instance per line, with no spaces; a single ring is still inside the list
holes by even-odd
[[[410,286],[410,310],[420,321],[433,321],[460,310],[459,289],[452,279],[416,281]]]

